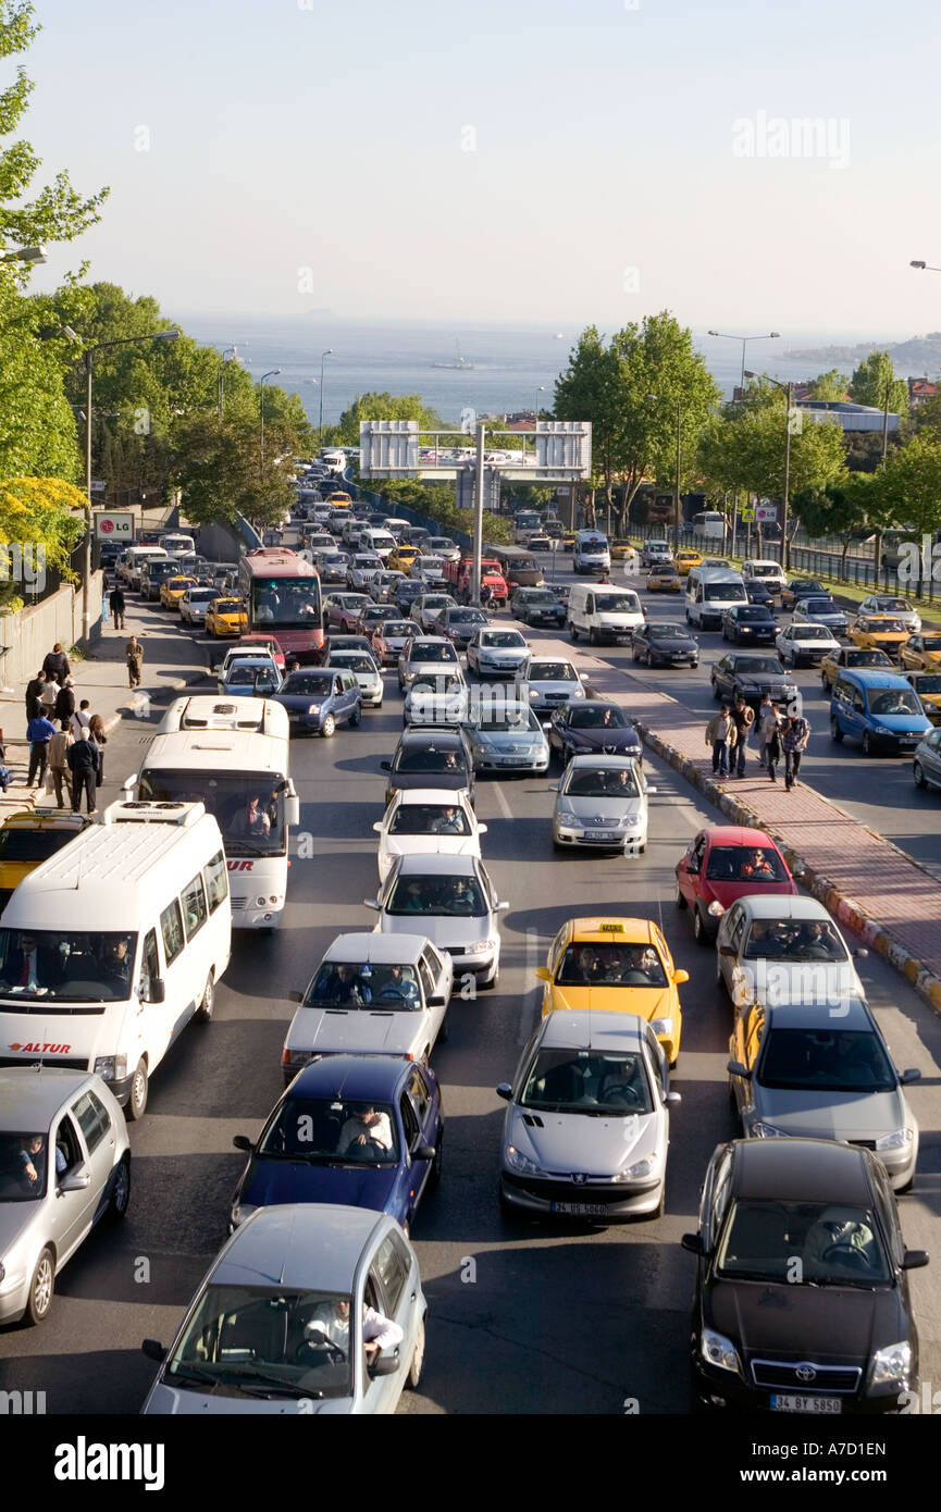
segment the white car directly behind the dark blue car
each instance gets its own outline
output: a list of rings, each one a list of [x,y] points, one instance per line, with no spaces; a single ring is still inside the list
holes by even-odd
[[[419,930],[402,934],[340,934],[306,992],[289,993],[298,1009],[281,1052],[290,1081],[315,1055],[407,1055],[428,1061],[448,1037],[445,1012],[454,966]]]

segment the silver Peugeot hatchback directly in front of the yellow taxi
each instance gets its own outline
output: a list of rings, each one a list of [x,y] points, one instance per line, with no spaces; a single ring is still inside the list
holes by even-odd
[[[504,1211],[601,1223],[663,1216],[669,1108],[681,1098],[643,1018],[551,1013],[496,1095],[508,1104]]]

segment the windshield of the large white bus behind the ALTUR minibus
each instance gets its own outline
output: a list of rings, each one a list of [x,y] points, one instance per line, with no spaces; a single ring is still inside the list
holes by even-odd
[[[227,856],[284,854],[284,777],[262,771],[141,773],[139,797],[154,803],[204,803],[222,832]],[[248,875],[248,874],[247,874]]]

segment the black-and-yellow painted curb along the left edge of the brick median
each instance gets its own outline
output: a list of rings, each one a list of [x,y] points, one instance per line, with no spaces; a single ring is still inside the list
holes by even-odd
[[[694,788],[697,788],[703,797],[710,800],[722,813],[728,815],[735,824],[741,824],[747,829],[766,830],[772,835],[776,844],[781,845],[784,859],[787,860],[791,871],[794,866],[803,868],[803,875],[800,877],[800,885],[806,888],[811,897],[817,898],[823,906],[853,934],[858,934],[862,942],[874,950],[877,956],[890,963],[906,981],[915,989],[918,996],[927,1002],[935,1013],[941,1013],[941,977],[930,966],[926,966],[917,956],[908,950],[902,940],[896,939],[893,931],[874,919],[865,912],[853,898],[847,897],[840,888],[834,886],[823,872],[815,871],[799,851],[791,845],[784,844],[781,838],[762,823],[759,813],[749,807],[747,803],[740,801],[720,788],[707,773],[700,771],[699,767],[691,762],[687,756],[670,745],[663,736],[657,735],[649,726],[640,720],[634,720],[634,727],[640,735],[644,745],[649,745],[652,751],[661,756],[675,771],[685,777]],[[832,804],[837,812],[843,812]],[[884,839],[879,836],[879,839]],[[893,845],[891,841],[885,841],[887,845]],[[893,845],[893,850],[899,850]],[[906,857],[906,860],[911,857]]]

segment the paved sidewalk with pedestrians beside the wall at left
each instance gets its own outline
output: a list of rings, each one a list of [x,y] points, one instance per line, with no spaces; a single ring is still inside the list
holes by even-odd
[[[109,623],[91,655],[82,659],[70,656],[76,708],[82,699],[91,699],[91,712],[101,715],[107,732],[123,720],[147,720],[154,705],[165,706],[180,689],[206,677],[206,656],[198,643],[194,644],[188,634],[180,634],[175,615],[168,621],[166,612],[156,605],[142,603],[130,594],[127,600],[124,631],[113,631]],[[144,646],[141,688],[135,689],[127,683],[124,659],[124,647],[132,635]],[[24,682],[0,699],[0,727],[6,764],[14,774],[6,794],[0,794],[3,823],[9,813],[32,809],[36,801],[45,807],[50,801],[42,788],[26,786],[29,745]]]

